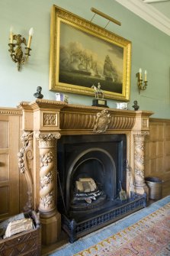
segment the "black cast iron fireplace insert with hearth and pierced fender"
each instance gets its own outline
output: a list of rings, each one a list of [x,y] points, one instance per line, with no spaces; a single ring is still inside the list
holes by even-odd
[[[120,200],[120,184],[127,190],[126,160],[126,134],[63,135],[58,140],[57,208],[70,242],[146,206],[146,196]]]

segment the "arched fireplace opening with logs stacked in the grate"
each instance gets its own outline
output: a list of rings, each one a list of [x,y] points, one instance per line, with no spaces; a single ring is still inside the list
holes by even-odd
[[[70,184],[70,213],[75,215],[75,219],[77,211],[81,215],[93,212],[117,197],[114,159],[101,147],[82,151],[69,168],[67,178],[67,185]]]

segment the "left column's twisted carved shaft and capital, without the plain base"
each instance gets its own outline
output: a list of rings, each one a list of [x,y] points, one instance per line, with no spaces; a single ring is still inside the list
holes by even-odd
[[[55,152],[56,139],[60,134],[41,134],[37,132],[35,137],[39,141],[40,148],[40,215],[50,215],[56,212],[56,173]]]

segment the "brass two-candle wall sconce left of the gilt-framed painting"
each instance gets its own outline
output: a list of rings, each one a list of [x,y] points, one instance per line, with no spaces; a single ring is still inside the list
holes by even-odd
[[[14,63],[18,63],[18,71],[20,70],[21,64],[24,64],[28,57],[30,56],[30,42],[32,40],[32,36],[34,34],[33,28],[30,28],[29,38],[26,44],[26,40],[24,37],[21,37],[21,34],[13,34],[12,28],[10,29],[10,44],[8,44],[9,52],[11,53],[11,59]],[[14,42],[15,41],[15,42]],[[23,53],[21,44],[25,46],[25,53]],[[23,56],[25,54],[25,56]]]

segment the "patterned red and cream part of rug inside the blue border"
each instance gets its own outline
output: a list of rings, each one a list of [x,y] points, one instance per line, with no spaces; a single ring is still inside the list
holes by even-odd
[[[170,203],[75,256],[170,255]]]

